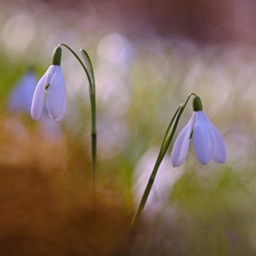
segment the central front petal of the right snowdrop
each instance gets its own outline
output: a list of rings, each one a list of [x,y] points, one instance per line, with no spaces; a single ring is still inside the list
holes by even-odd
[[[208,126],[202,111],[196,112],[193,143],[197,159],[202,165],[207,165],[207,163],[212,159],[214,139],[212,136],[212,131]]]

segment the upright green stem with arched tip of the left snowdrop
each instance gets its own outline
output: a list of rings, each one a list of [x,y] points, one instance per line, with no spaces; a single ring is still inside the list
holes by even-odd
[[[93,193],[93,207],[96,207],[96,160],[97,160],[97,148],[96,148],[96,84],[94,78],[94,71],[90,61],[90,57],[84,49],[80,49],[84,62],[81,61],[79,56],[71,49],[67,44],[59,44],[59,47],[64,46],[69,49],[73,55],[78,59],[84,72],[87,75],[90,84],[90,108],[91,108],[91,172],[92,172],[92,193]],[[86,67],[88,66],[88,67]],[[89,69],[89,70],[88,70]]]

